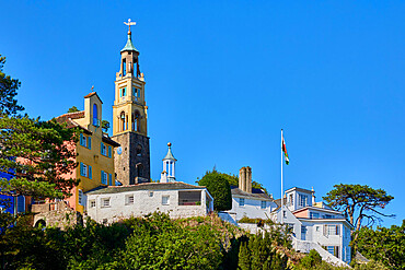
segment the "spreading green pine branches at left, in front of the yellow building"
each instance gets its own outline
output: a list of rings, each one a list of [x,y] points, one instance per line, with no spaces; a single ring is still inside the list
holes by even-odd
[[[13,178],[0,178],[1,193],[61,198],[78,184],[66,179],[76,168],[72,148],[77,131],[55,120],[39,121],[27,116],[0,118],[0,169],[13,172]],[[16,157],[16,159],[15,159]]]

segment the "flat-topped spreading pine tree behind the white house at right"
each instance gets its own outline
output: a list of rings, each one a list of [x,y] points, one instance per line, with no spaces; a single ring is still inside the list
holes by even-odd
[[[368,221],[368,226],[381,221],[380,216],[386,215],[379,211],[394,199],[383,189],[373,189],[361,185],[335,185],[323,199],[331,207],[345,212],[350,218],[350,223],[355,225],[356,231],[360,230],[363,219]]]

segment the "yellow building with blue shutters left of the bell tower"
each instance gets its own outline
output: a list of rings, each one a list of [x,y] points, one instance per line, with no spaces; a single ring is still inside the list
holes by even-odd
[[[96,92],[84,96],[84,110],[65,114],[57,121],[67,122],[69,128],[80,128],[80,140],[73,145],[77,152],[78,167],[67,177],[79,178],[80,184],[71,190],[72,196],[66,201],[83,213],[84,192],[100,186],[115,186],[114,148],[119,144],[103,132],[102,101]]]

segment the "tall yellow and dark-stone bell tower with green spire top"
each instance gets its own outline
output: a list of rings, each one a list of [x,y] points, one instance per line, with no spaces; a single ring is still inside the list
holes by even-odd
[[[115,156],[116,179],[123,185],[150,181],[148,106],[144,99],[144,78],[139,68],[139,51],[135,48],[128,20],[128,39],[120,50],[119,72],[115,80],[113,105],[113,140],[120,146]]]

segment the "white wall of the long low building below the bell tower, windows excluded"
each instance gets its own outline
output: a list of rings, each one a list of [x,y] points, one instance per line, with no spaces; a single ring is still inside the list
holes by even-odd
[[[196,190],[187,189],[186,191]],[[200,206],[178,206],[178,190],[138,190],[107,195],[88,195],[88,215],[100,223],[104,219],[112,223],[130,216],[143,216],[155,211],[169,213],[174,219],[207,215],[212,210],[212,203],[210,203],[210,208],[207,208],[207,193],[205,190],[200,191]],[[153,192],[152,197],[149,196],[150,192]],[[127,204],[126,197],[131,195],[134,195],[134,204]],[[163,196],[170,197],[167,206],[162,204]],[[102,207],[103,198],[109,198],[109,207]],[[96,201],[95,208],[90,207],[92,200]]]

